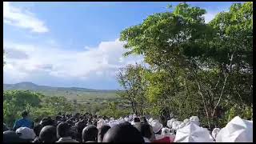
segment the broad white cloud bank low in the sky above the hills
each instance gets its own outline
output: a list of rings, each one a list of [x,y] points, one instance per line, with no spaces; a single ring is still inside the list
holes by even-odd
[[[48,78],[79,80],[114,78],[118,68],[143,61],[142,56],[122,58],[126,50],[122,48],[123,42],[118,40],[101,42],[95,48],[82,51],[62,50],[46,43],[48,46],[5,42],[7,65],[4,66],[4,78],[18,77],[26,80],[36,74],[48,75]],[[26,54],[26,58],[14,58],[9,51],[15,50]]]

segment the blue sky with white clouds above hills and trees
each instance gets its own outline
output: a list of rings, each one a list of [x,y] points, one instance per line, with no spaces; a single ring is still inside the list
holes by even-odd
[[[179,2],[3,2],[4,83],[34,82],[116,90],[123,58],[120,32]],[[207,11],[206,22],[234,2],[187,2]]]

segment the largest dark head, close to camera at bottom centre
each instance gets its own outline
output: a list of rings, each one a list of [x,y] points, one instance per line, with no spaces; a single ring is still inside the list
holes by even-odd
[[[111,127],[102,142],[144,142],[144,139],[134,126],[122,123]]]

